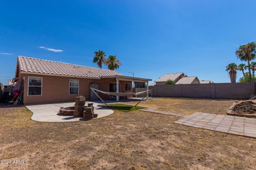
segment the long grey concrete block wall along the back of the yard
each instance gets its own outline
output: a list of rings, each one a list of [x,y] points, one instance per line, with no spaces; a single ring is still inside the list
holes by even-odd
[[[164,84],[149,89],[154,97],[249,99],[256,94],[256,83]]]

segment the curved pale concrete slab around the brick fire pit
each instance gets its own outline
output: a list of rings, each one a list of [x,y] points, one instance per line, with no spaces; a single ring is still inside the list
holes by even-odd
[[[108,116],[114,113],[114,111],[111,109],[99,107],[98,105],[102,104],[101,101],[86,101],[86,103],[93,103],[94,113],[98,114],[97,118]],[[60,107],[69,107],[74,105],[75,105],[75,102],[70,102],[70,103],[58,103],[58,104],[29,105],[26,107],[31,112],[33,112],[33,116],[31,117],[31,120],[34,120],[34,121],[38,121],[38,122],[82,121],[83,118],[81,117],[63,116],[58,114]]]

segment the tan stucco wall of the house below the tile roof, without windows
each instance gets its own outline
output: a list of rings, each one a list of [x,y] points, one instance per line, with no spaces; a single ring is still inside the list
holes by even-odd
[[[28,77],[42,77],[42,95],[29,96],[28,95]],[[29,104],[41,104],[41,103],[60,103],[74,101],[74,97],[85,96],[86,100],[90,100],[90,83],[98,83],[99,90],[109,91],[109,83],[116,82],[115,78],[111,79],[84,79],[73,77],[58,77],[50,75],[36,75],[36,74],[20,74],[20,79],[24,81],[24,96],[23,103]],[[69,81],[70,79],[79,80],[78,95],[69,94]],[[131,81],[119,81],[120,92],[132,92],[125,91],[125,83],[131,83]],[[108,99],[108,95],[99,94],[103,99]]]

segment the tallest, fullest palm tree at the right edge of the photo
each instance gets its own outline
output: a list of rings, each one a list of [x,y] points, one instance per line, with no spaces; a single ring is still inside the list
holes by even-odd
[[[250,61],[252,61],[255,58],[255,55],[256,55],[255,48],[256,48],[256,44],[252,42],[252,43],[241,45],[236,49],[236,56],[240,60],[247,61],[248,63],[250,81],[252,81]]]

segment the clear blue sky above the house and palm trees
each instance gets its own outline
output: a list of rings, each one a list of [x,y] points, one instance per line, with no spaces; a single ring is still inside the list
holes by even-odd
[[[255,6],[235,0],[1,1],[0,82],[14,77],[18,55],[97,67],[92,57],[99,49],[117,55],[117,71],[125,75],[156,80],[184,72],[229,82],[225,66],[241,63],[235,49],[256,40]]]

